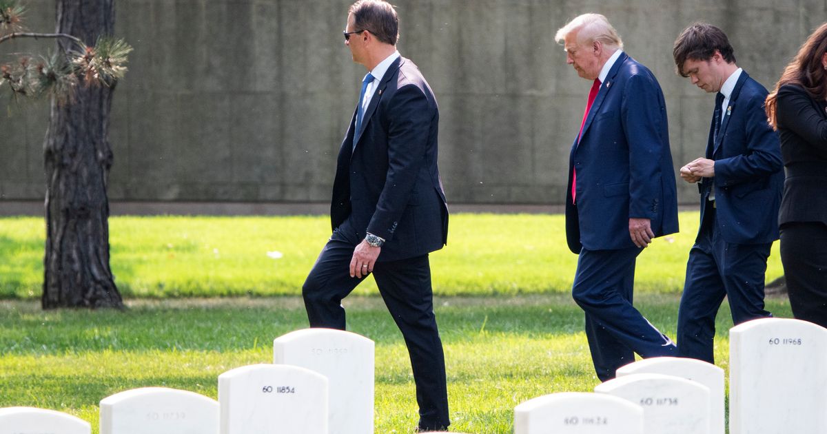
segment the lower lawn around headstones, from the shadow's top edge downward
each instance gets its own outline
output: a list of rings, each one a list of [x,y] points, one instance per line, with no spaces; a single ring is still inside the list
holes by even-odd
[[[638,308],[675,335],[678,296],[643,294]],[[98,402],[123,390],[165,386],[218,397],[218,375],[272,361],[272,340],[307,327],[300,298],[133,300],[126,312],[43,312],[0,302],[0,407],[54,408],[92,423]],[[348,327],[376,342],[375,432],[410,432],[413,377],[402,336],[380,298],[346,300]],[[786,299],[767,308],[791,317]],[[510,433],[514,407],[546,393],[590,391],[583,315],[562,294],[437,298],[452,431]],[[732,327],[719,312],[715,356],[727,370]]]

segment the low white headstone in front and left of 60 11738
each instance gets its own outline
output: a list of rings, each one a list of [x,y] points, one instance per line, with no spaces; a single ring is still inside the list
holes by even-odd
[[[643,434],[643,408],[599,393],[552,393],[514,408],[514,434]]]

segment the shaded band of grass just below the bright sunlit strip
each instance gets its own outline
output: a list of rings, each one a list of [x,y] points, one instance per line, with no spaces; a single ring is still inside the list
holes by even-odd
[[[646,295],[636,306],[674,336],[678,296]],[[480,336],[528,338],[583,331],[583,312],[567,296],[437,298],[437,323],[446,343]],[[301,298],[156,300],[130,303],[126,312],[42,311],[36,302],[0,302],[0,354],[48,355],[84,351],[239,351],[270,346],[275,337],[308,327]],[[401,341],[380,298],[346,299],[348,330],[377,346]],[[786,299],[768,299],[777,317],[791,317]],[[719,335],[732,327],[724,303]]]

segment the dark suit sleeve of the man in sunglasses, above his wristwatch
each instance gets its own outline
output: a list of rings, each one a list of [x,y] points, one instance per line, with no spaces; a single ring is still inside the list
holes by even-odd
[[[390,241],[425,164],[433,110],[414,84],[399,88],[389,103],[388,174],[367,231]]]

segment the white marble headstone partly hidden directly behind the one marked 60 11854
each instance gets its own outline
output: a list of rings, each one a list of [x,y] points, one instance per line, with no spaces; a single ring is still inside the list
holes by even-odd
[[[337,434],[373,434],[373,341],[329,328],[293,331],[273,341],[273,363],[327,377],[329,427]]]

